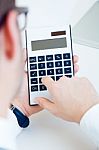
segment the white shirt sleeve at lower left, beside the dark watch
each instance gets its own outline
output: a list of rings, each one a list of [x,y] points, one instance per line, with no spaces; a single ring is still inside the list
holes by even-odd
[[[0,148],[16,150],[16,136],[21,132],[17,118],[8,110],[7,118],[0,118]]]

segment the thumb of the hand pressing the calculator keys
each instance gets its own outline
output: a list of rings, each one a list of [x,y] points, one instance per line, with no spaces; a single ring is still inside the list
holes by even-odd
[[[46,98],[36,98],[36,102],[44,109],[47,109],[50,112],[54,110],[54,103],[50,102]]]

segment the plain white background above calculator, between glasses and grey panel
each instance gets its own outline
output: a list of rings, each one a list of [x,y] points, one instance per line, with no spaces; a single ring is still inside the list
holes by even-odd
[[[78,22],[96,0],[16,0],[29,8],[28,26],[52,26]]]

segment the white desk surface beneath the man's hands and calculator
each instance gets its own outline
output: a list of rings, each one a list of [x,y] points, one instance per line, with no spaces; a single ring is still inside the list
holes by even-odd
[[[78,76],[87,76],[99,91],[99,51],[74,45],[79,55]],[[96,150],[79,125],[55,118],[47,111],[31,117],[31,125],[17,137],[18,150]]]

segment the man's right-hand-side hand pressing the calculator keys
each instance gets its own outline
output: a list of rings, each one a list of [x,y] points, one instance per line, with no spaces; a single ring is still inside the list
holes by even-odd
[[[37,98],[39,105],[57,117],[79,123],[85,112],[99,103],[99,95],[86,78],[62,77],[53,81],[50,77],[42,79],[42,83],[51,94],[51,102],[45,98]]]

